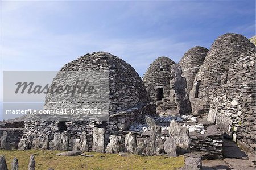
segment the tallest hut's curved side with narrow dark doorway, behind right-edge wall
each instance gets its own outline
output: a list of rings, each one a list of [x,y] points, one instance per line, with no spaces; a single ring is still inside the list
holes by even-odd
[[[210,48],[203,64],[196,74],[189,98],[194,113],[209,110],[209,93],[228,82],[232,61],[246,55],[255,46],[243,35],[224,34],[217,38]],[[234,77],[237,78],[237,77]]]

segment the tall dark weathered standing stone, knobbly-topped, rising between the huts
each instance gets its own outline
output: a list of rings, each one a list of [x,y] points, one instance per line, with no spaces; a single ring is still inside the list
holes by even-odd
[[[174,97],[180,115],[189,115],[192,113],[191,104],[185,88],[187,88],[187,81],[182,77],[182,70],[179,64],[171,66],[172,80],[170,80],[170,87],[174,90]],[[170,93],[172,94],[172,93]],[[171,96],[170,96],[171,97]]]

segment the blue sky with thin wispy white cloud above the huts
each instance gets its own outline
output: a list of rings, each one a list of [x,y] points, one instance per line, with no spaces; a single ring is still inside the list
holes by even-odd
[[[255,35],[254,0],[1,1],[0,11],[1,70],[56,71],[106,51],[142,77],[157,57],[178,62],[226,32]]]

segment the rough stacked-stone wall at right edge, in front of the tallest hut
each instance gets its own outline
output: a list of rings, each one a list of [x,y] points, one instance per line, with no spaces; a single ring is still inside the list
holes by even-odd
[[[234,35],[240,37],[241,35]],[[240,52],[229,61],[226,80],[210,92],[208,121],[233,136],[248,151],[256,148],[255,46],[246,38]],[[235,42],[240,47],[240,42]]]

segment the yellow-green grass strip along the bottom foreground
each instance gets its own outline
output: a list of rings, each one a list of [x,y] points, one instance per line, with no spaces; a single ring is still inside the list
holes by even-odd
[[[11,161],[18,158],[19,169],[27,169],[31,154],[35,154],[36,169],[54,168],[55,170],[65,169],[179,169],[184,166],[184,157],[165,156],[139,156],[129,154],[122,157],[118,154],[101,154],[96,152],[86,152],[94,154],[94,157],[84,156],[58,156],[60,151],[5,151],[0,150],[0,155],[5,155],[6,163],[11,169]]]

